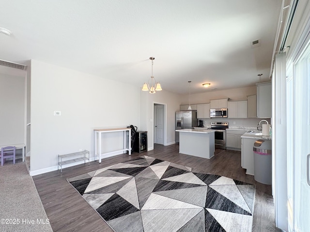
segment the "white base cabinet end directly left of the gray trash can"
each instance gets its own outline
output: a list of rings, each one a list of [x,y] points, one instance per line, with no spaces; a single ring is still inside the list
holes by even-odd
[[[257,139],[241,138],[241,166],[246,174],[254,175],[253,145]]]

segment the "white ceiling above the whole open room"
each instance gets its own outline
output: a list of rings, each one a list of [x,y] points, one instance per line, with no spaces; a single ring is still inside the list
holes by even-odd
[[[0,59],[202,93],[269,81],[282,0],[5,0]],[[252,45],[253,41],[259,43]],[[211,83],[203,88],[203,83]]]

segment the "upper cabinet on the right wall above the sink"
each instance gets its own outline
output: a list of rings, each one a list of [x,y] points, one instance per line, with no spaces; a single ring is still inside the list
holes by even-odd
[[[257,117],[271,118],[272,114],[272,88],[271,82],[256,84],[257,87]]]

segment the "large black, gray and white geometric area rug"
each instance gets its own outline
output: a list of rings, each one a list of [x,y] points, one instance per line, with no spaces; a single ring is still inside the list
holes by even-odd
[[[228,177],[141,156],[67,180],[115,232],[252,231],[255,185]]]

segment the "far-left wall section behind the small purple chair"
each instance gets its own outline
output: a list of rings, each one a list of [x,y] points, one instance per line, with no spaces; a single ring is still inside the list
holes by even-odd
[[[0,145],[25,143],[25,77],[0,74]]]

